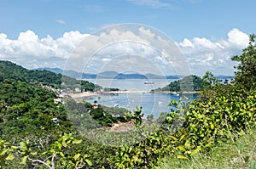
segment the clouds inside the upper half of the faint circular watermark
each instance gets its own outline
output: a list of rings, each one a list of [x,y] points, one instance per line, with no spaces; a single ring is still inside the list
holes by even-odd
[[[128,62],[125,57],[132,59]],[[144,61],[139,61],[139,58],[143,58]],[[107,59],[111,61],[102,62]],[[131,61],[133,61],[132,64]],[[154,63],[151,69],[145,69],[145,63],[148,61]],[[176,64],[173,64],[173,61]],[[174,67],[180,75],[189,74],[188,65],[177,45],[160,31],[142,25],[110,25],[86,37],[67,61],[67,70],[84,70],[84,63],[87,70],[94,71],[94,73],[108,65],[108,69],[116,71],[119,68],[131,70],[133,66],[134,70],[144,74],[161,74],[162,72],[174,74],[176,73],[173,71]],[[163,68],[168,68],[164,65],[169,65],[171,68],[163,70]]]

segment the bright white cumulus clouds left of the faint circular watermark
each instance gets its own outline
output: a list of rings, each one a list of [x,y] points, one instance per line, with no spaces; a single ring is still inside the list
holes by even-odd
[[[0,34],[0,59],[8,59],[27,68],[63,65],[72,50],[87,35],[79,31],[65,32],[62,37],[53,39],[47,36],[38,38],[35,32],[20,32],[16,40]],[[56,63],[57,62],[57,63]],[[57,66],[60,67],[60,66]]]

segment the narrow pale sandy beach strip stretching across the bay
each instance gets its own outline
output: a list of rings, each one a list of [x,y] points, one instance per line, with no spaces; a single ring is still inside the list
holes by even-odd
[[[113,94],[113,95],[118,95],[118,94],[125,94],[125,93],[164,93],[164,94],[194,94],[194,93],[200,93],[201,91],[192,91],[192,92],[169,92],[169,91],[160,91],[160,92],[151,92],[151,91],[138,91],[138,90],[126,90],[126,91],[113,91],[113,92],[87,92],[87,93],[61,93],[62,95],[68,95],[72,98],[84,98],[84,97],[89,97],[89,96],[98,96],[98,95],[105,95],[105,94]]]

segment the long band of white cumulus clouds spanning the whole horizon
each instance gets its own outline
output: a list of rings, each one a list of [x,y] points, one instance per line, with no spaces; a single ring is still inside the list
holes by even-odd
[[[83,70],[84,63],[93,71],[104,66],[118,70],[125,66],[132,69],[131,65],[136,65],[134,69],[142,67],[142,71],[160,72],[171,66],[172,71],[166,69],[165,74],[175,73],[173,67],[179,71],[187,69],[184,66],[188,63],[193,74],[202,75],[206,70],[211,70],[216,75],[232,75],[235,63],[230,61],[230,57],[241,54],[241,49],[246,48],[249,41],[248,35],[236,28],[229,31],[225,39],[213,41],[194,37],[184,38],[182,42],[170,42],[143,26],[137,29],[137,33],[129,31],[129,28],[125,31],[122,29],[117,27],[95,35],[69,31],[56,39],[49,35],[39,38],[31,30],[20,32],[14,40],[0,33],[0,59],[8,59],[30,69],[65,68],[65,64],[73,60],[74,64],[70,66],[73,70]],[[148,69],[145,63],[149,62],[155,65],[155,69]],[[116,63],[119,66],[115,66]]]

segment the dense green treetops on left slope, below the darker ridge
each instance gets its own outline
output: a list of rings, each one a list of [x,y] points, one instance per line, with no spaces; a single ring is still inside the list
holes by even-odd
[[[10,138],[21,132],[53,129],[53,117],[61,127],[70,127],[63,105],[57,106],[55,93],[26,82],[0,82],[0,133]]]

